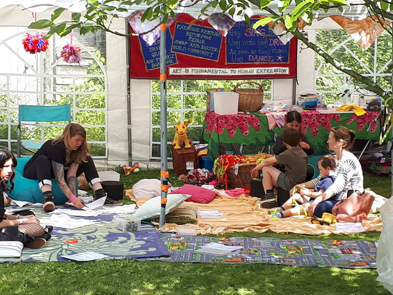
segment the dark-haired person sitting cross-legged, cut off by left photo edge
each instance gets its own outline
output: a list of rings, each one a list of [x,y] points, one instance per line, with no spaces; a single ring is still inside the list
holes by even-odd
[[[39,249],[46,245],[52,227],[44,230],[40,221],[34,215],[19,216],[5,214],[4,199],[7,191],[14,188],[14,169],[18,164],[15,156],[6,149],[0,149],[0,241],[17,240],[25,244],[25,247]],[[10,188],[8,188],[8,182]]]

